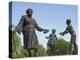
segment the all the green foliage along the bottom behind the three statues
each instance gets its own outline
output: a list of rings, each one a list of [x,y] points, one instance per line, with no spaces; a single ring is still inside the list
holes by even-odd
[[[35,52],[32,50],[31,52],[32,56],[34,56],[34,53]],[[51,50],[49,46],[47,46],[46,50],[42,44],[39,44],[39,48],[37,51],[38,56],[47,56],[50,53]],[[69,53],[69,42],[65,41],[62,38],[58,38],[56,40],[55,48],[53,47],[53,55],[67,55],[68,53]],[[16,34],[15,31],[12,31],[12,58],[22,58],[28,56],[29,53],[27,49],[25,50],[21,46],[20,37]]]

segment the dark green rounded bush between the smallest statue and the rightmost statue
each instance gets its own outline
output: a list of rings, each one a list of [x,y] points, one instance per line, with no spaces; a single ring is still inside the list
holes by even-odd
[[[66,42],[62,38],[56,41],[56,54],[57,55],[66,55],[68,54],[69,42]]]

